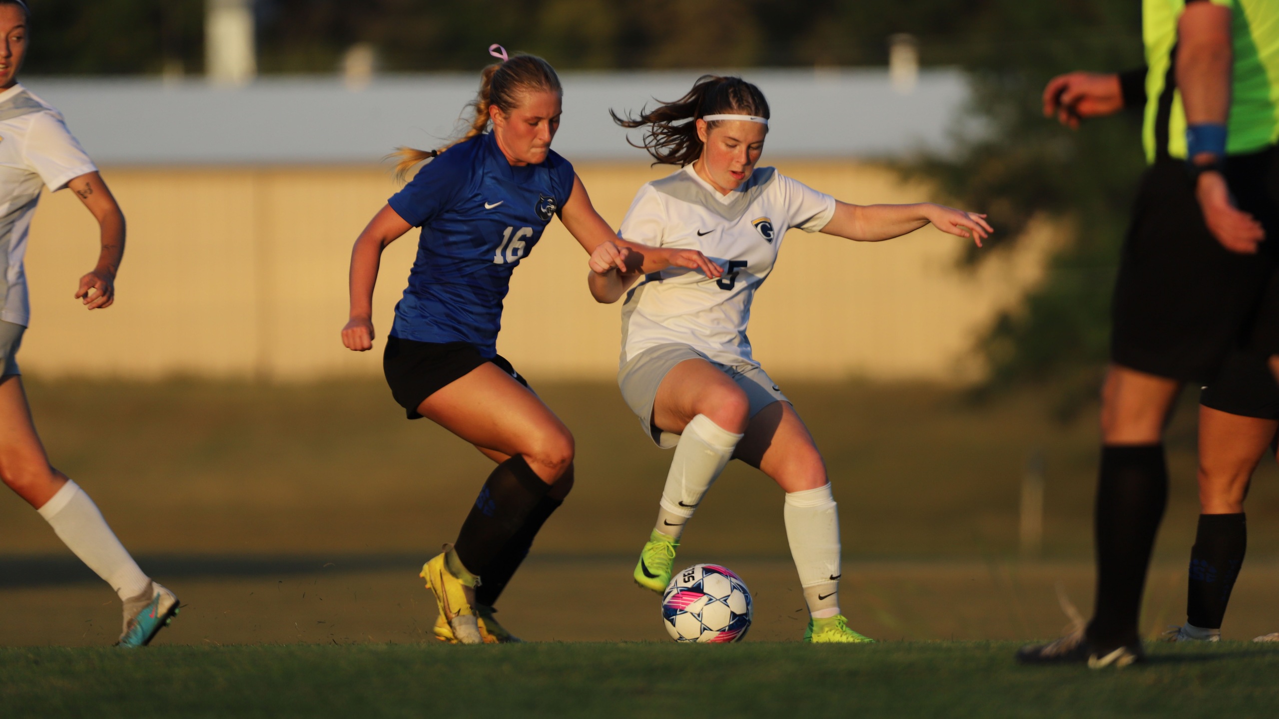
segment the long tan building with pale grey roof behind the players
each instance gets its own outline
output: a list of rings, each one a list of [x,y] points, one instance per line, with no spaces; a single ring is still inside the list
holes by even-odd
[[[856,203],[935,198],[885,161],[944,152],[968,97],[955,72],[756,70],[774,124],[764,164]],[[618,226],[650,168],[609,109],[678,97],[689,72],[565,77],[556,148]],[[382,156],[435,147],[455,130],[476,78],[409,75],[261,81],[36,78],[105,168],[129,219],[119,301],[84,312],[68,297],[95,257],[96,226],[70,193],[43,200],[28,274],[35,320],[23,366],[41,375],[256,376],[311,380],[380,372],[377,352],[345,351],[349,248],[396,189]],[[884,244],[792,232],[756,303],[752,340],[781,375],[966,381],[999,312],[1039,281],[1054,233],[981,267],[964,242],[932,230]],[[413,262],[417,230],[389,248],[377,288],[381,331]],[[506,301],[500,351],[547,379],[616,371],[619,306],[586,292],[586,256],[558,223],[523,262]],[[95,352],[78,348],[86,344]]]

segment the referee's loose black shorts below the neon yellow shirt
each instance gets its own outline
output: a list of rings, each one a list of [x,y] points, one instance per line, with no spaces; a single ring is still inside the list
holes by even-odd
[[[1186,164],[1161,159],[1142,177],[1124,241],[1111,308],[1110,358],[1182,381],[1210,381],[1247,342],[1279,249],[1279,152],[1229,157],[1239,206],[1270,237],[1257,255],[1236,255],[1204,224]]]

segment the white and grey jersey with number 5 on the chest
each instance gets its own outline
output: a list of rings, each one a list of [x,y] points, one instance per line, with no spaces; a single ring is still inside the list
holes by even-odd
[[[710,279],[671,267],[646,275],[622,308],[622,363],[659,344],[687,344],[724,365],[758,365],[746,326],[755,292],[790,228],[817,232],[835,198],[773,168],[720,194],[692,165],[640,188],[620,237],[652,247],[701,249],[724,269]]]

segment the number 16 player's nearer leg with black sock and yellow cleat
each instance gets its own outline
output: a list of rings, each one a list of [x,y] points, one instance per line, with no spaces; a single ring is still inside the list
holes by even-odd
[[[431,394],[418,412],[492,457],[508,458],[489,475],[458,541],[421,573],[450,637],[478,644],[485,636],[476,589],[572,467],[573,435],[536,394],[490,362]]]

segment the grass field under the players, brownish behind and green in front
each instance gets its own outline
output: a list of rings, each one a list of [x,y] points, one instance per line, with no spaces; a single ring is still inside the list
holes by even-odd
[[[542,642],[518,647],[430,641],[435,609],[417,567],[453,539],[491,464],[404,421],[381,383],[32,381],[54,463],[184,609],[156,646],[105,649],[119,633],[110,589],[0,493],[0,716],[1256,716],[1276,706],[1279,652],[1257,645],[1159,645],[1151,665],[1113,674],[1013,665],[1019,641],[1065,623],[1058,587],[1091,606],[1091,413],[1054,421],[1035,393],[973,404],[932,386],[783,379],[839,500],[843,609],[886,641],[797,642],[803,603],[781,494],[734,463],[680,560],[742,573],[755,626],[742,645],[687,647],[665,638],[655,596],[629,580],[669,453],[614,386],[536,380],[574,431],[578,485],[499,603],[512,629]],[[1183,620],[1193,399],[1168,443],[1147,636]],[[1045,545],[1023,559],[1019,485],[1036,452]],[[1276,475],[1264,463],[1248,500],[1228,638],[1279,629]]]

